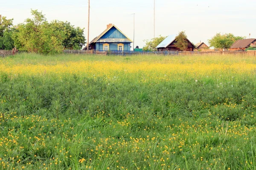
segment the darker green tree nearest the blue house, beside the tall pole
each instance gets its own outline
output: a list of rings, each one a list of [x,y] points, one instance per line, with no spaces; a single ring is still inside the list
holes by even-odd
[[[64,41],[62,45],[64,49],[75,49],[79,50],[86,43],[84,37],[84,29],[80,27],[74,27],[69,22],[63,22],[54,20],[50,23],[50,25],[56,30],[64,31]]]

